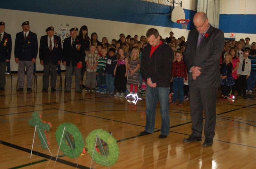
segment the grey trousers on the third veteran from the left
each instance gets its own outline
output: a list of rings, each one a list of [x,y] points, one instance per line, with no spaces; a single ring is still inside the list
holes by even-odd
[[[43,75],[43,88],[48,89],[49,87],[49,72],[51,68],[51,89],[55,89],[57,81],[57,65],[53,65],[52,61],[49,64],[44,64],[44,75]]]

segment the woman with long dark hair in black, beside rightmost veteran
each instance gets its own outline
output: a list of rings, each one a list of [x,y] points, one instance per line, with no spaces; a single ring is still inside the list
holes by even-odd
[[[85,55],[90,51],[89,50],[89,47],[90,47],[90,38],[88,37],[88,28],[87,26],[83,25],[81,28],[80,28],[80,31],[79,31],[79,35],[78,35],[81,39],[83,39],[83,43],[84,43],[84,49],[85,49]],[[85,56],[84,55],[84,56]],[[85,60],[85,58],[83,59]],[[82,84],[82,80],[84,78],[84,71],[85,71],[85,68],[86,68],[86,63],[85,61],[83,62],[83,67],[81,69],[81,83],[80,85]],[[85,88],[85,86],[83,85],[83,88]]]

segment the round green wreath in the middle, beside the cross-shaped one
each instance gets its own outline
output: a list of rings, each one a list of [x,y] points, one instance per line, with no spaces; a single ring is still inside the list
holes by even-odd
[[[64,132],[63,139],[60,146],[60,140],[62,137],[64,127],[65,127],[65,132]],[[70,136],[72,137],[70,141],[67,141],[67,135],[68,135],[68,139],[70,138]],[[57,143],[60,146],[60,150],[63,153],[65,153],[68,157],[76,158],[83,152],[84,139],[81,132],[74,124],[72,123],[60,124],[58,129],[56,130],[55,136],[56,136]],[[70,145],[70,143],[72,145]],[[73,151],[71,146],[74,147]]]

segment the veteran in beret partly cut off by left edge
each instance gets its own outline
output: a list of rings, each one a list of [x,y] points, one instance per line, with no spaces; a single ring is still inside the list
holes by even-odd
[[[0,22],[0,91],[5,90],[5,67],[7,62],[10,63],[12,53],[12,37],[4,30],[5,23]]]

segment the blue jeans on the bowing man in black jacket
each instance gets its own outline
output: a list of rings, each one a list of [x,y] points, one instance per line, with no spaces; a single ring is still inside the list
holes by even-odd
[[[170,130],[170,114],[169,114],[169,92],[170,88],[151,88],[147,85],[146,92],[146,126],[145,131],[154,132],[156,117],[156,102],[159,99],[160,111],[162,116],[161,134],[168,135]]]

